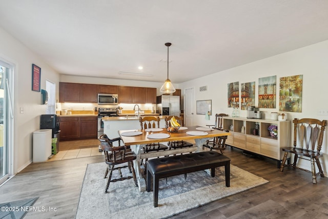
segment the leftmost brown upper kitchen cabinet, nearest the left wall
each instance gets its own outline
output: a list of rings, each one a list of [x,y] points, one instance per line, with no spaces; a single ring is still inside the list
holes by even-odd
[[[80,84],[59,82],[59,102],[79,103]]]

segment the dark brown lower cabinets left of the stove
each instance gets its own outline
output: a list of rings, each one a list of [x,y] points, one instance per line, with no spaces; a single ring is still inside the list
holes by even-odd
[[[60,141],[97,138],[97,116],[59,116]]]

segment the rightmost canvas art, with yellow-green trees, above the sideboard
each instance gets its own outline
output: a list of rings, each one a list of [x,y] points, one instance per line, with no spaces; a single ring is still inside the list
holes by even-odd
[[[280,77],[279,111],[302,112],[303,75]]]

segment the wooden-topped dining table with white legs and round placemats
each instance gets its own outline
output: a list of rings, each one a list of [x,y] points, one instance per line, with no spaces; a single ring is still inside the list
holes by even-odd
[[[201,152],[203,150],[202,145],[207,140],[212,140],[214,137],[217,136],[224,136],[224,135],[230,135],[229,132],[220,131],[216,129],[211,129],[211,131],[199,131],[200,126],[192,126],[192,127],[186,127],[183,130],[178,130],[177,132],[168,132],[166,128],[162,128],[161,131],[147,131],[146,130],[119,130],[118,134],[121,137],[122,141],[125,145],[131,146],[131,149],[136,153],[137,158],[134,161],[134,167],[138,182],[139,191],[146,191],[146,181],[144,174],[141,171],[141,159],[144,158],[151,158],[151,157],[158,157],[158,156],[167,156],[167,155],[173,155],[173,154],[180,154],[180,153],[189,153],[189,152]],[[196,132],[195,132],[196,131]],[[124,132],[129,132],[129,135],[132,132],[136,132],[137,135],[132,136],[125,136],[125,134],[122,134]],[[206,133],[201,133],[206,132]],[[155,133],[164,133],[168,137],[166,138],[150,138],[152,134]],[[191,134],[190,134],[191,133]],[[199,133],[199,135],[197,135]],[[188,147],[188,148],[180,148],[180,149],[171,149],[171,150],[164,150],[164,151],[156,151],[156,152],[149,152],[144,153],[142,151],[143,144],[150,144],[150,143],[167,143],[172,141],[187,141],[187,140],[194,140],[195,146],[194,147]]]

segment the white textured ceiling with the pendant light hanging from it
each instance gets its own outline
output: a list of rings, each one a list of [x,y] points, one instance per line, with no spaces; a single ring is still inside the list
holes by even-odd
[[[171,42],[181,83],[325,41],[328,1],[0,0],[0,27],[69,75],[163,82]]]

